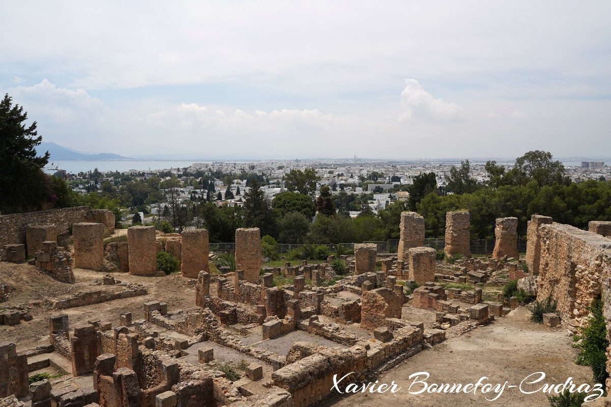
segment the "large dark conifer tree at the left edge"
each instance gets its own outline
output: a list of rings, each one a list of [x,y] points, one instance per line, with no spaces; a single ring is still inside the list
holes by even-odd
[[[50,180],[43,172],[49,152],[37,156],[42,136],[34,121],[27,126],[23,106],[12,104],[8,94],[0,101],[0,212],[38,209],[55,201]]]

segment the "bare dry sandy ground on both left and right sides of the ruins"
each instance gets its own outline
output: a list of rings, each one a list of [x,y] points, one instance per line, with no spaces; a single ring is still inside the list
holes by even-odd
[[[0,309],[7,306],[26,305],[34,317],[30,322],[17,326],[0,326],[0,342],[15,342],[18,350],[31,349],[36,345],[48,344],[49,317],[68,314],[70,325],[89,319],[119,323],[119,315],[133,312],[134,320],[144,317],[142,304],[146,301],[162,300],[171,310],[194,306],[194,285],[187,285],[188,279],[180,275],[165,277],[138,277],[125,273],[114,273],[115,278],[124,282],[144,284],[148,295],[109,301],[80,308],[53,310],[49,301],[65,295],[93,290],[113,290],[117,287],[101,286],[103,273],[75,269],[78,283],[59,283],[27,264],[0,262],[0,281],[15,287],[9,301],[0,303]],[[424,312],[424,314],[422,313]],[[490,383],[518,385],[522,379],[534,372],[545,372],[544,383],[564,383],[573,377],[575,383],[590,383],[588,367],[573,363],[576,351],[571,348],[571,336],[559,328],[547,328],[530,322],[529,312],[520,308],[507,317],[479,327],[461,336],[452,336],[431,350],[425,350],[408,359],[400,366],[379,378],[379,383],[395,381],[401,386],[395,394],[354,394],[349,397],[335,397],[321,403],[322,406],[548,406],[546,396],[521,394],[517,388],[505,389],[503,395],[493,402],[474,394],[409,394],[409,375],[428,372],[428,383],[475,383],[481,376],[488,376]],[[418,319],[430,325],[434,313],[404,308],[403,317]],[[355,325],[356,329],[357,326]],[[303,340],[304,338],[299,338]],[[282,342],[282,340],[280,340]],[[270,343],[271,345],[271,343]],[[258,344],[265,347],[265,342]],[[227,355],[228,359],[231,359]],[[236,357],[238,355],[235,355]],[[414,387],[415,389],[415,387]]]

